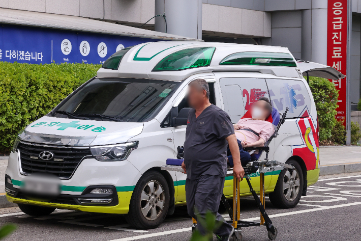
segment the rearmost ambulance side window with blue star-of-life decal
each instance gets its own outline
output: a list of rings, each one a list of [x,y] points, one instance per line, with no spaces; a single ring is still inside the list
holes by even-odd
[[[286,118],[304,116],[306,108],[311,111],[311,99],[302,81],[293,79],[266,79],[272,106],[280,113],[288,107]],[[307,115],[308,116],[308,115]]]

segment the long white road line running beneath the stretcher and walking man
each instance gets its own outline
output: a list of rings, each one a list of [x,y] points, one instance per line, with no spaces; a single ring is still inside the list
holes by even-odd
[[[314,212],[314,211],[334,209],[334,208],[339,208],[339,207],[348,207],[348,206],[354,206],[354,205],[361,205],[361,202],[353,202],[353,203],[339,204],[339,205],[334,205],[334,206],[323,206],[323,207],[318,207],[318,208],[310,208],[310,209],[306,209],[306,210],[278,213],[275,215],[270,215],[269,218],[290,216],[290,215],[295,215],[295,214],[299,214],[299,213]],[[259,220],[259,217],[243,219],[243,221],[256,221],[256,220]],[[188,232],[188,231],[192,231],[192,228],[189,227],[189,228],[174,229],[174,230],[158,232],[158,233],[149,233],[149,234],[143,234],[143,235],[138,235],[138,236],[133,236],[133,237],[112,239],[109,241],[130,241],[130,240],[137,240],[137,239],[149,238],[149,237],[157,237],[157,236],[163,236],[163,235],[172,234],[172,233],[180,233],[180,232]]]

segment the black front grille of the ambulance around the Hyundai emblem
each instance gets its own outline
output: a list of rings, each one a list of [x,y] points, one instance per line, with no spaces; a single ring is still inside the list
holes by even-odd
[[[84,156],[91,156],[89,147],[42,146],[20,142],[21,169],[24,173],[52,173],[59,178],[69,179]],[[43,160],[39,154],[52,152],[53,158]]]

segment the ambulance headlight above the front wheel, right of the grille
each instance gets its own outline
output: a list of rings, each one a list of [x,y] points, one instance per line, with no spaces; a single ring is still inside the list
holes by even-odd
[[[91,147],[93,156],[100,161],[125,160],[132,150],[137,149],[138,141],[122,144]]]

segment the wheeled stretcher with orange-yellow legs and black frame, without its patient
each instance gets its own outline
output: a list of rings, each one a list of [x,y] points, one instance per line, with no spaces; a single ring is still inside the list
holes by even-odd
[[[242,241],[242,228],[244,227],[252,227],[252,226],[266,226],[268,232],[268,238],[271,240],[275,240],[278,234],[277,228],[272,224],[272,221],[267,215],[265,210],[265,190],[264,190],[264,175],[268,172],[279,171],[283,169],[289,169],[290,171],[294,169],[292,165],[288,165],[285,163],[280,163],[277,160],[268,160],[268,153],[269,153],[269,143],[272,141],[273,138],[278,136],[278,130],[280,129],[281,125],[284,123],[284,120],[287,115],[287,111],[289,109],[286,108],[286,111],[283,113],[279,123],[276,126],[274,135],[267,141],[267,143],[263,147],[254,147],[254,148],[244,148],[245,150],[258,150],[259,156],[260,153],[263,151],[266,153],[264,160],[254,160],[249,162],[246,166],[244,166],[245,170],[245,179],[248,183],[250,188],[250,192],[252,193],[256,204],[260,210],[260,222],[251,222],[251,221],[243,221],[240,220],[240,204],[239,204],[239,180],[237,178],[233,178],[233,206],[231,207],[223,194],[221,197],[221,202],[225,206],[228,211],[228,215],[230,221],[227,223],[231,224],[234,228],[234,233],[230,240],[232,241]],[[176,171],[176,172],[184,172],[181,165],[183,163],[183,147],[178,147],[178,159],[167,159],[167,165],[161,166],[162,170],[167,171]],[[229,168],[227,170],[227,176],[233,176],[232,173],[233,169]],[[250,174],[256,173],[259,171],[259,197],[256,191],[253,190],[252,184],[250,182],[251,178],[249,177]],[[197,222],[193,219],[192,224],[192,231],[197,227]]]

